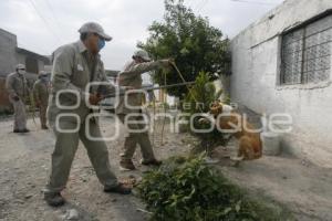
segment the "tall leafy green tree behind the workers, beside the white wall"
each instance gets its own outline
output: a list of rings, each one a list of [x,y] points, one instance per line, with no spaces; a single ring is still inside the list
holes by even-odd
[[[229,74],[228,39],[222,40],[222,32],[185,7],[184,0],[165,0],[164,21],[154,21],[148,31],[149,38],[145,43],[139,42],[138,48],[156,60],[174,59],[187,82],[195,81],[199,72],[212,78]],[[154,81],[164,85],[165,76],[167,84],[181,82],[174,69],[158,71]],[[186,87],[174,87],[168,93],[183,98]]]

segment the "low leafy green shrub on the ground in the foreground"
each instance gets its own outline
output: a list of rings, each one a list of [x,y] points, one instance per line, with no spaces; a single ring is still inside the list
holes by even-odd
[[[280,220],[203,158],[173,158],[136,187],[157,221]],[[284,220],[284,219],[281,219]]]

